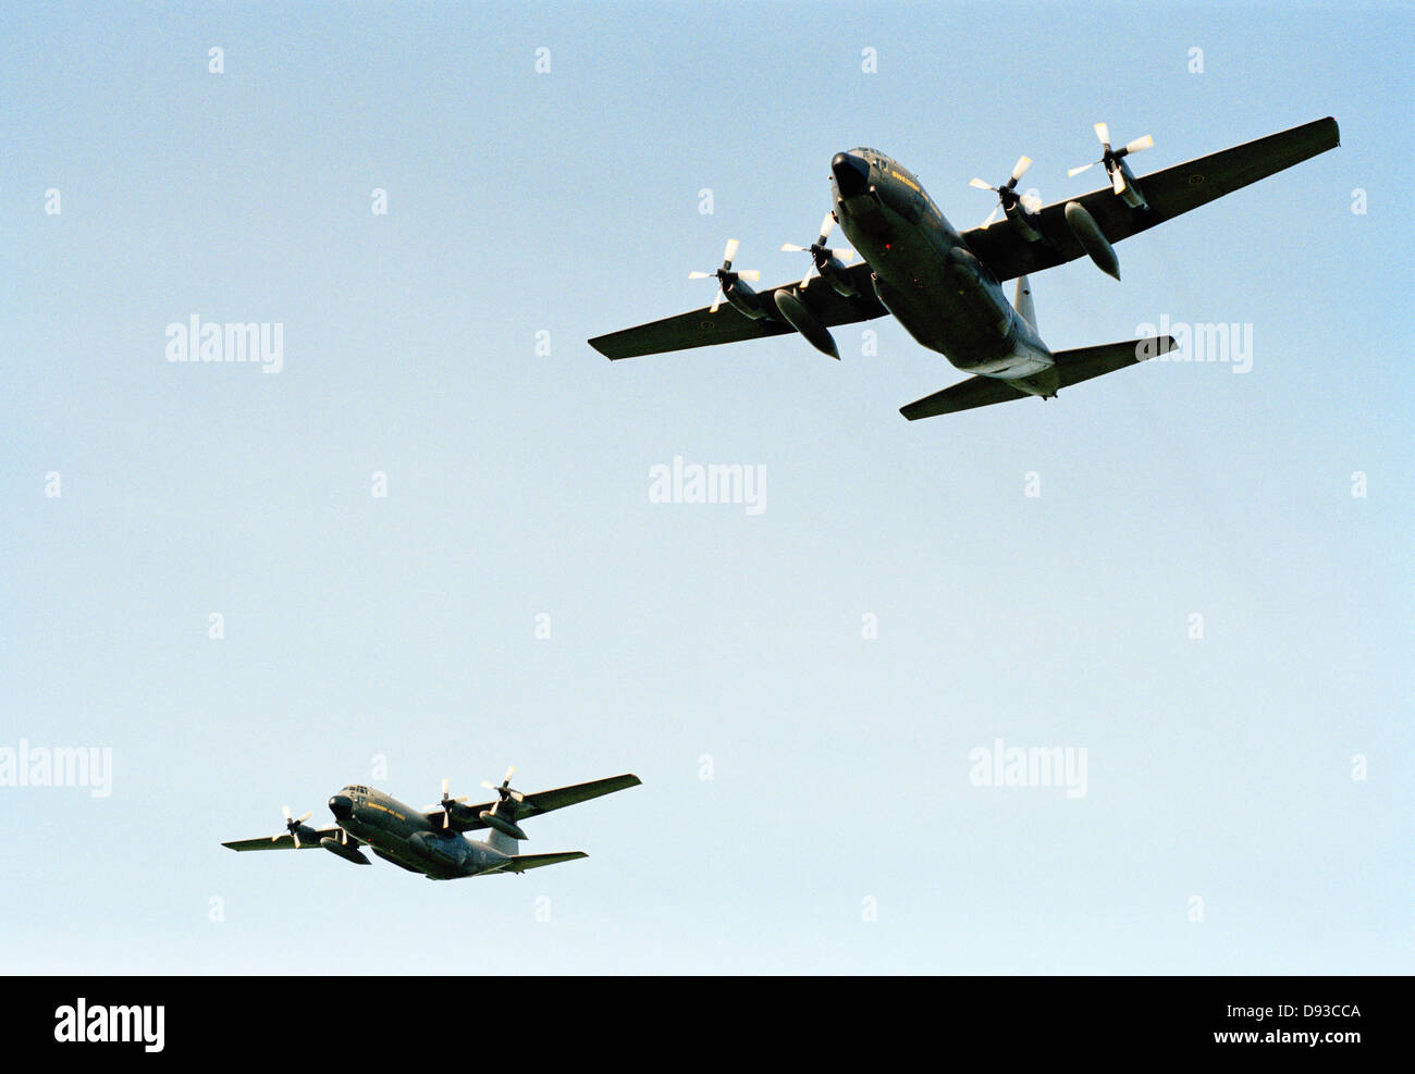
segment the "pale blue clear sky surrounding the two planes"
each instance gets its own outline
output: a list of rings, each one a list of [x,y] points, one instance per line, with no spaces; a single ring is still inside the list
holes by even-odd
[[[0,968],[1411,972],[1412,28],[6,6],[0,756],[110,768],[0,785]],[[1143,174],[1329,115],[1122,282],[1032,280],[1053,348],[1163,317],[1242,362],[910,423],[962,374],[891,318],[839,362],[586,344],[708,303],[727,238],[799,277],[843,149],[966,228],[1023,153],[1094,190],[1098,120]],[[192,316],[279,369],[168,361]],[[761,509],[655,502],[675,457]],[[986,785],[1015,747],[1085,780]],[[508,764],[644,785],[529,822],[590,856],[519,879],[221,846]]]

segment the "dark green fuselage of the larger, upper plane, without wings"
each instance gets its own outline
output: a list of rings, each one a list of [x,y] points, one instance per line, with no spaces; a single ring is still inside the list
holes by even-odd
[[[838,153],[831,194],[880,303],[920,345],[965,372],[1056,393],[1047,345],[910,171],[872,149]]]

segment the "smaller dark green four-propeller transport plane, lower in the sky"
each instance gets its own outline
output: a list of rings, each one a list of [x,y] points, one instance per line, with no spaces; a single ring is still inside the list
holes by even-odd
[[[385,862],[392,862],[410,873],[422,873],[429,880],[456,880],[460,876],[485,873],[524,873],[526,869],[573,862],[589,855],[583,850],[553,855],[516,853],[518,842],[528,838],[521,829],[522,821],[640,784],[637,775],[627,774],[553,791],[522,794],[511,787],[515,771],[514,767],[509,768],[499,787],[483,783],[483,787],[497,792],[497,801],[480,805],[467,805],[467,795],[449,798],[449,783],[443,780],[441,801],[426,809],[403,805],[372,787],[350,784],[330,798],[330,812],[335,821],[331,825],[308,828],[304,822],[310,819],[310,814],[291,816],[290,807],[286,807],[283,833],[236,839],[222,846],[229,846],[232,850],[323,848],[345,862],[369,865],[359,849],[361,845],[366,845]],[[481,828],[491,829],[485,842],[463,835]]]

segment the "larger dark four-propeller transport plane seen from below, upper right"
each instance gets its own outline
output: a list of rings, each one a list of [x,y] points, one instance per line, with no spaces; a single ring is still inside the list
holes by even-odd
[[[1207,157],[1136,177],[1128,157],[1153,139],[1111,144],[1105,123],[1095,125],[1109,185],[1041,207],[1017,192],[1030,166],[1022,157],[995,191],[1003,219],[958,232],[938,211],[918,180],[873,149],[852,149],[831,158],[833,211],[809,246],[814,267],[798,282],[753,290],[757,272],[733,269],[737,242],[730,241],[722,267],[692,273],[716,277],[712,306],[590,340],[607,358],[635,358],[691,347],[737,342],[799,333],[816,350],[839,358],[829,328],[886,313],[894,314],[917,342],[974,374],[949,388],[901,408],[904,417],[968,410],[1023,399],[1050,399],[1092,376],[1135,365],[1174,347],[1172,337],[1051,351],[1037,335],[1027,273],[1088,256],[1098,269],[1121,277],[1112,243],[1199,208],[1339,144],[1330,116]],[[1073,168],[1085,171],[1090,164]],[[849,250],[826,246],[835,224],[865,260],[849,263]],[[814,275],[819,283],[812,286]],[[1017,280],[1013,303],[1003,280]]]

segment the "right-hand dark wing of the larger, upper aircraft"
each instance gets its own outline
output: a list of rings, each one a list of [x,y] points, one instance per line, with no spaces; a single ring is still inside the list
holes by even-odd
[[[1146,209],[1132,209],[1109,187],[1102,187],[1039,209],[1036,229],[1041,233],[1040,242],[1027,242],[1006,219],[988,228],[966,231],[964,241],[993,276],[1010,280],[1087,256],[1065,222],[1068,201],[1080,201],[1105,238],[1115,243],[1336,149],[1339,143],[1336,120],[1327,116],[1257,142],[1210,153],[1187,164],[1138,175],[1135,185],[1149,204]]]

